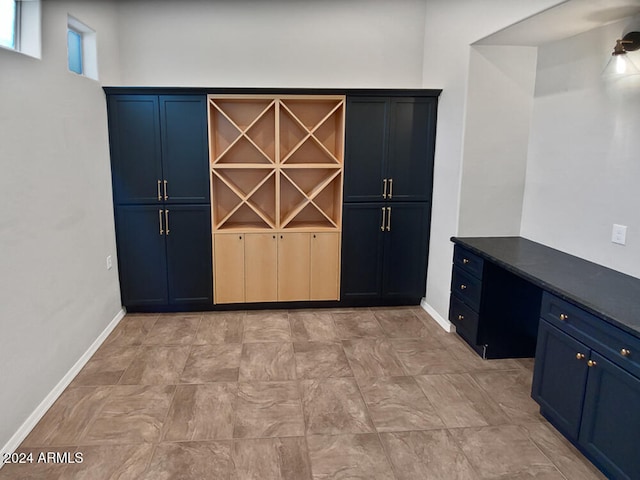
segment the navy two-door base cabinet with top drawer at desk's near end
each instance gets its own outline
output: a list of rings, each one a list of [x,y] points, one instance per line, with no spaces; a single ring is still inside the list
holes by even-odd
[[[545,293],[532,397],[612,479],[640,478],[640,339]]]

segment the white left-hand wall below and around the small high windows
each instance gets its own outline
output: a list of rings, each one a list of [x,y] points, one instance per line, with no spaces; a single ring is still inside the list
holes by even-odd
[[[107,76],[115,15],[86,3],[43,2],[42,60],[0,50],[0,447],[121,308],[105,99],[66,58],[71,13]]]

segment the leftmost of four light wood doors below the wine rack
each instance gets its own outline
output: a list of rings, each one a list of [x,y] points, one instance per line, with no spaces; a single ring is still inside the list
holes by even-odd
[[[244,235],[216,234],[214,240],[215,303],[242,303],[244,294]]]

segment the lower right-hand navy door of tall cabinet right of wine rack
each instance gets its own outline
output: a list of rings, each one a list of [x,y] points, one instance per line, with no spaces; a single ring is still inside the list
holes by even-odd
[[[426,291],[428,202],[387,204],[382,295],[420,299]]]

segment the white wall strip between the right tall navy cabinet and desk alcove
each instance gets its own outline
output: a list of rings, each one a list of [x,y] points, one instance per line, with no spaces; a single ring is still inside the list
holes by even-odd
[[[470,45],[558,0],[427,0],[425,22],[424,88],[442,88],[434,171],[431,245],[427,272],[427,304],[447,318],[453,245],[458,234],[460,183]],[[487,125],[502,123],[489,116]]]

